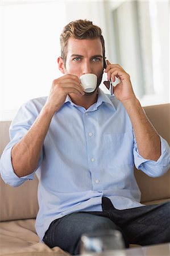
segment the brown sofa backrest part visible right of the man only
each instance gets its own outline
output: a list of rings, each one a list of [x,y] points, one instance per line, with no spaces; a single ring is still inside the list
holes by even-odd
[[[170,104],[146,106],[144,111],[157,133],[170,144]],[[170,198],[170,170],[161,177],[153,178],[135,169],[135,177],[142,193],[142,202]]]

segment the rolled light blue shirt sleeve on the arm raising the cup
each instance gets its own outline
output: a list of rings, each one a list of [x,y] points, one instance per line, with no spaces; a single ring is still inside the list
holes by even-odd
[[[43,159],[43,150],[40,155],[40,159],[38,162],[38,166],[32,172],[32,174],[27,176],[18,177],[13,169],[13,164],[11,160],[11,150],[13,146],[23,138],[23,136],[30,129],[31,125],[34,123],[36,117],[38,116],[38,110],[36,110],[35,106],[30,102],[24,104],[16,114],[13,122],[10,126],[10,142],[3,150],[1,161],[0,161],[0,170],[1,177],[5,183],[17,187],[21,185],[26,180],[33,180],[35,171],[38,170],[42,159]]]

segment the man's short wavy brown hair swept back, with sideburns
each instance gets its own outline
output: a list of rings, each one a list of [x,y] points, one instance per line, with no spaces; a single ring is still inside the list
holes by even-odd
[[[68,39],[96,39],[100,38],[102,43],[102,53],[105,57],[105,41],[102,36],[101,28],[94,25],[90,20],[74,20],[68,23],[60,35],[61,57],[64,60],[64,64],[67,59],[67,44]]]

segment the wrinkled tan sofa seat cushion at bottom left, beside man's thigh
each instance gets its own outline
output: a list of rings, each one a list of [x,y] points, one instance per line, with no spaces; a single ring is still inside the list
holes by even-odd
[[[69,255],[59,247],[49,248],[35,232],[35,219],[4,221],[0,223],[0,255],[60,256]]]

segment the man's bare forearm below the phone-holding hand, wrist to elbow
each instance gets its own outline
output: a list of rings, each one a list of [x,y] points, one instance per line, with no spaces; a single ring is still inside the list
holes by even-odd
[[[160,137],[144,114],[140,102],[134,97],[122,103],[132,122],[139,154],[156,161],[161,155]]]

